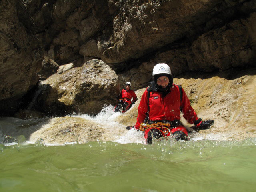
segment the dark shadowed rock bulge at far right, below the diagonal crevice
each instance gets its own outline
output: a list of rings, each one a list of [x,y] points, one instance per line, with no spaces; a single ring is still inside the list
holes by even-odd
[[[252,63],[252,48],[246,26],[233,21],[220,29],[211,30],[193,42],[187,54],[191,70],[226,70]]]

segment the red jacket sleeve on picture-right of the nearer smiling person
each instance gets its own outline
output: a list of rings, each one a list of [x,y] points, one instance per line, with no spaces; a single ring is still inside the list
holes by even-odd
[[[183,117],[190,123],[193,124],[196,120],[198,120],[197,114],[190,105],[190,101],[185,91],[182,89],[182,100],[180,101],[180,108],[183,112]]]

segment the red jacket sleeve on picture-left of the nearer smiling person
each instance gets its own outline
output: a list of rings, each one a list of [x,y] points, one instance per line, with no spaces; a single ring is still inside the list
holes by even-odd
[[[140,128],[140,124],[144,122],[146,118],[146,112],[148,112],[148,91],[147,90],[145,90],[145,92],[141,97],[140,104],[138,107],[137,122],[134,128],[136,129]]]

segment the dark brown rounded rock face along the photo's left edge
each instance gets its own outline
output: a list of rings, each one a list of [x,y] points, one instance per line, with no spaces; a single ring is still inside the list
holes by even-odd
[[[43,60],[40,42],[18,17],[15,0],[0,2],[0,113],[20,106],[21,98],[38,82]]]

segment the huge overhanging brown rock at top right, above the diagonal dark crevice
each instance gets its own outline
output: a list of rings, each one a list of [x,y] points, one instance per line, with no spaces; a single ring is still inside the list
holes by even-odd
[[[179,2],[179,3],[177,3]],[[212,29],[222,28],[237,18],[238,9],[246,16],[255,12],[253,1],[126,1],[116,2],[120,12],[113,19],[110,44],[100,48],[102,60],[120,63],[141,58],[175,42],[193,42]],[[239,29],[238,29],[239,30]],[[234,32],[236,33],[236,32]],[[247,32],[246,32],[247,33]],[[237,37],[234,34],[234,37]],[[228,41],[228,40],[227,40]],[[104,47],[106,39],[98,42]],[[216,54],[220,54],[216,52]]]

